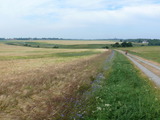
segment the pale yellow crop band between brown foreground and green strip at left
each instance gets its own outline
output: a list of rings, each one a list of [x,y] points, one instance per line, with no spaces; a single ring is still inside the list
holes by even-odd
[[[84,57],[80,57],[83,59]],[[24,60],[12,60],[12,61],[0,61],[0,81],[9,80],[10,75],[23,74],[28,71],[44,69],[48,66],[60,66],[67,64],[70,61],[79,59],[78,57],[71,58],[40,58],[40,59],[24,59]]]

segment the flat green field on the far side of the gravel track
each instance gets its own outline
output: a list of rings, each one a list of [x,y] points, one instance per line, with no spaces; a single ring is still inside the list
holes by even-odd
[[[132,54],[160,63],[160,46],[121,48],[121,50],[128,50]]]

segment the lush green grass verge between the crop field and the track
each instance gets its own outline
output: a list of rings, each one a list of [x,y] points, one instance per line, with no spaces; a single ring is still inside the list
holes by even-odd
[[[87,101],[84,120],[160,119],[158,89],[140,76],[131,62],[116,53],[109,75]]]

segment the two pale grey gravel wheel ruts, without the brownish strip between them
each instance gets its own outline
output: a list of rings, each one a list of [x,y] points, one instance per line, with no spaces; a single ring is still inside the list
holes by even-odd
[[[120,50],[117,50],[117,51],[125,55],[124,52],[122,52]],[[146,67],[144,67],[139,62],[137,62],[137,60],[140,61],[140,62],[143,62],[147,65],[150,65],[157,70],[160,70],[160,66],[154,65],[150,62],[142,60],[142,59],[140,59],[136,56],[133,56],[131,54],[128,54],[128,55],[125,55],[125,56],[128,57],[143,73],[145,73],[150,78],[150,80],[154,81],[157,86],[160,86],[160,77],[158,75],[156,75],[155,73],[153,73],[152,71],[150,71],[149,69],[147,69]]]

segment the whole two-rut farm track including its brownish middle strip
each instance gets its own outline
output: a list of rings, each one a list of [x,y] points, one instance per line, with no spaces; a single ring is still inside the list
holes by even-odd
[[[118,52],[125,55],[123,51],[118,50]],[[144,74],[146,74],[150,80],[154,81],[157,86],[160,86],[160,66],[140,58],[138,56],[127,54],[128,57]]]

